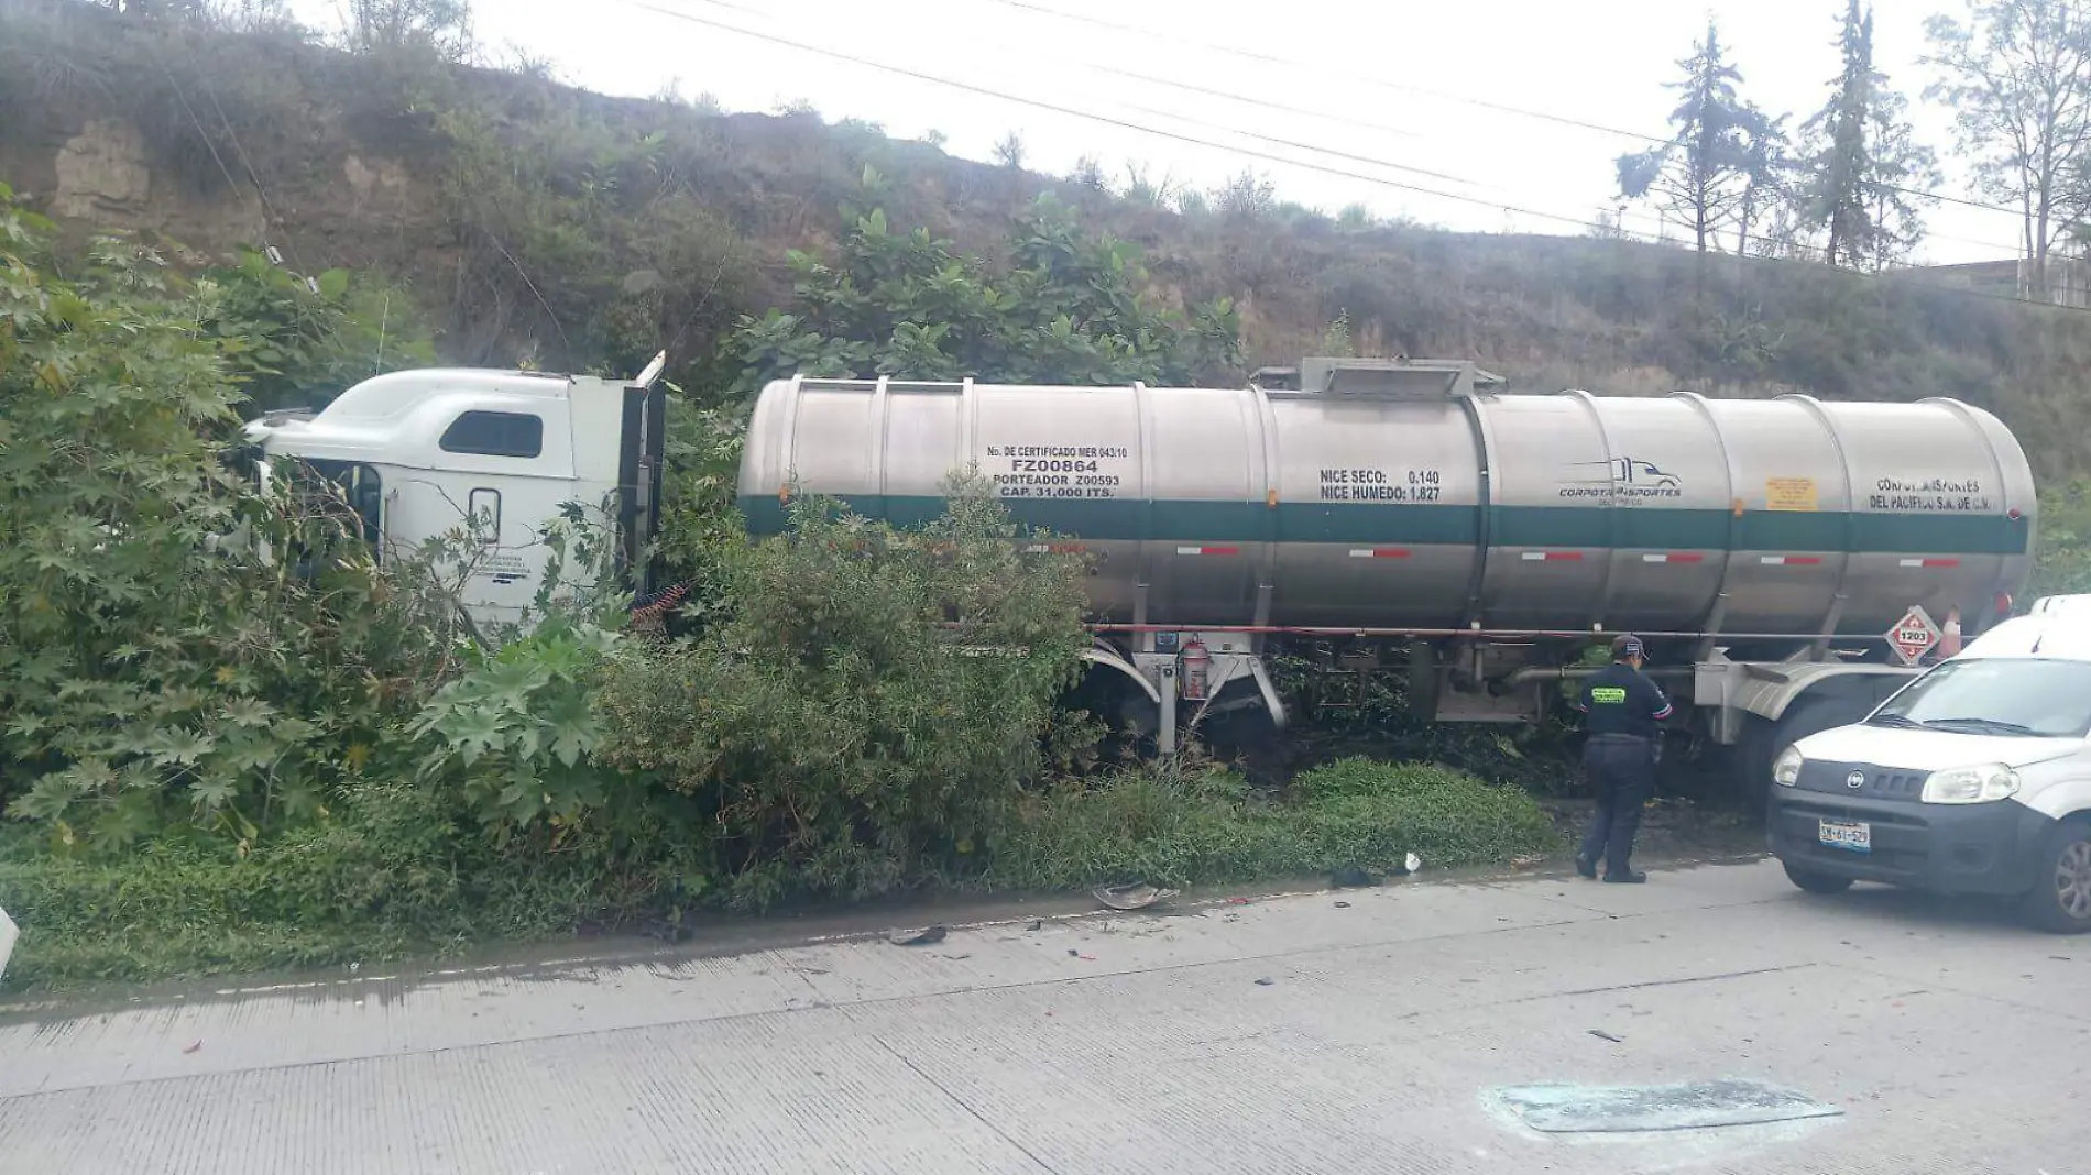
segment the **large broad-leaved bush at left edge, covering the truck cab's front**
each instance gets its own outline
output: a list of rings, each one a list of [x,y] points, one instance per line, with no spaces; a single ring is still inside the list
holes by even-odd
[[[0,188],[0,794],[65,843],[309,817],[443,650],[339,512],[222,460],[238,391],[161,257],[65,282],[44,230]]]

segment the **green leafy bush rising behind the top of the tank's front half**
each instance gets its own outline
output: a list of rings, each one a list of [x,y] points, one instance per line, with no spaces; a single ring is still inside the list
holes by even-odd
[[[834,263],[790,255],[792,312],[742,318],[728,343],[742,393],[788,374],[1008,383],[1190,385],[1240,368],[1240,322],[1219,299],[1190,322],[1152,305],[1140,253],[1083,236],[1039,197],[999,270],[928,230],[855,220]]]

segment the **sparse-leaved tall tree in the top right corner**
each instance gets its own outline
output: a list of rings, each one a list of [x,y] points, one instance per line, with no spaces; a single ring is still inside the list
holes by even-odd
[[[2091,13],[2081,0],[1970,0],[1968,19],[1932,17],[1926,94],[1953,107],[1976,192],[2020,209],[2035,297],[2047,257],[2085,215],[2076,176],[2091,157]]]

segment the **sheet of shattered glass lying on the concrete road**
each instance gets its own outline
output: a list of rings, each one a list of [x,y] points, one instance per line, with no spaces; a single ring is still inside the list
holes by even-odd
[[[1763,1081],[1510,1085],[1495,1098],[1545,1133],[1650,1133],[1834,1119],[1844,1110]]]

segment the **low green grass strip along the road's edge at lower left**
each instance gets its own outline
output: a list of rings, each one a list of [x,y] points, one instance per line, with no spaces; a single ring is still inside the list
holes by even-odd
[[[498,849],[404,784],[353,788],[339,820],[247,853],[54,853],[10,830],[0,905],[21,939],[0,993],[443,955],[627,920],[657,889],[602,855]]]

